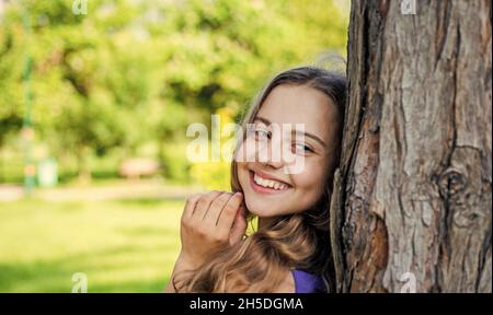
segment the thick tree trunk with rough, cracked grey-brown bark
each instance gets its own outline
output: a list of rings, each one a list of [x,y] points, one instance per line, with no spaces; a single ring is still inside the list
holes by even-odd
[[[491,0],[400,2],[352,3],[337,291],[491,292]]]

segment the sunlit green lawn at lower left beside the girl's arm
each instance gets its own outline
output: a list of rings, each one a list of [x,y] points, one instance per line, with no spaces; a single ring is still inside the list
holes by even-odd
[[[184,201],[0,203],[0,292],[161,292]]]

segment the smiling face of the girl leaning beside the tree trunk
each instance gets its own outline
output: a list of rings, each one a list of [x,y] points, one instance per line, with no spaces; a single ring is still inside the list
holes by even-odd
[[[319,200],[332,168],[337,121],[332,100],[313,88],[283,84],[271,91],[238,151],[243,161],[237,163],[238,179],[250,212],[260,218],[291,214]],[[259,162],[261,155],[265,159]],[[294,165],[301,167],[293,172]]]

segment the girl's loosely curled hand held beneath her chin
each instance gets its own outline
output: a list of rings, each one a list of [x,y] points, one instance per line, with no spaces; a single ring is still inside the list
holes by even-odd
[[[241,192],[210,191],[188,198],[181,220],[179,261],[197,268],[215,249],[241,241],[246,220]],[[185,262],[186,261],[186,262]]]

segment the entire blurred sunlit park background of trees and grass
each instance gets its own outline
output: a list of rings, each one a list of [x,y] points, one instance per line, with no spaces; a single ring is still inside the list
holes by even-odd
[[[348,0],[87,2],[0,0],[0,292],[161,291],[185,198],[229,188],[187,126],[346,54]]]

